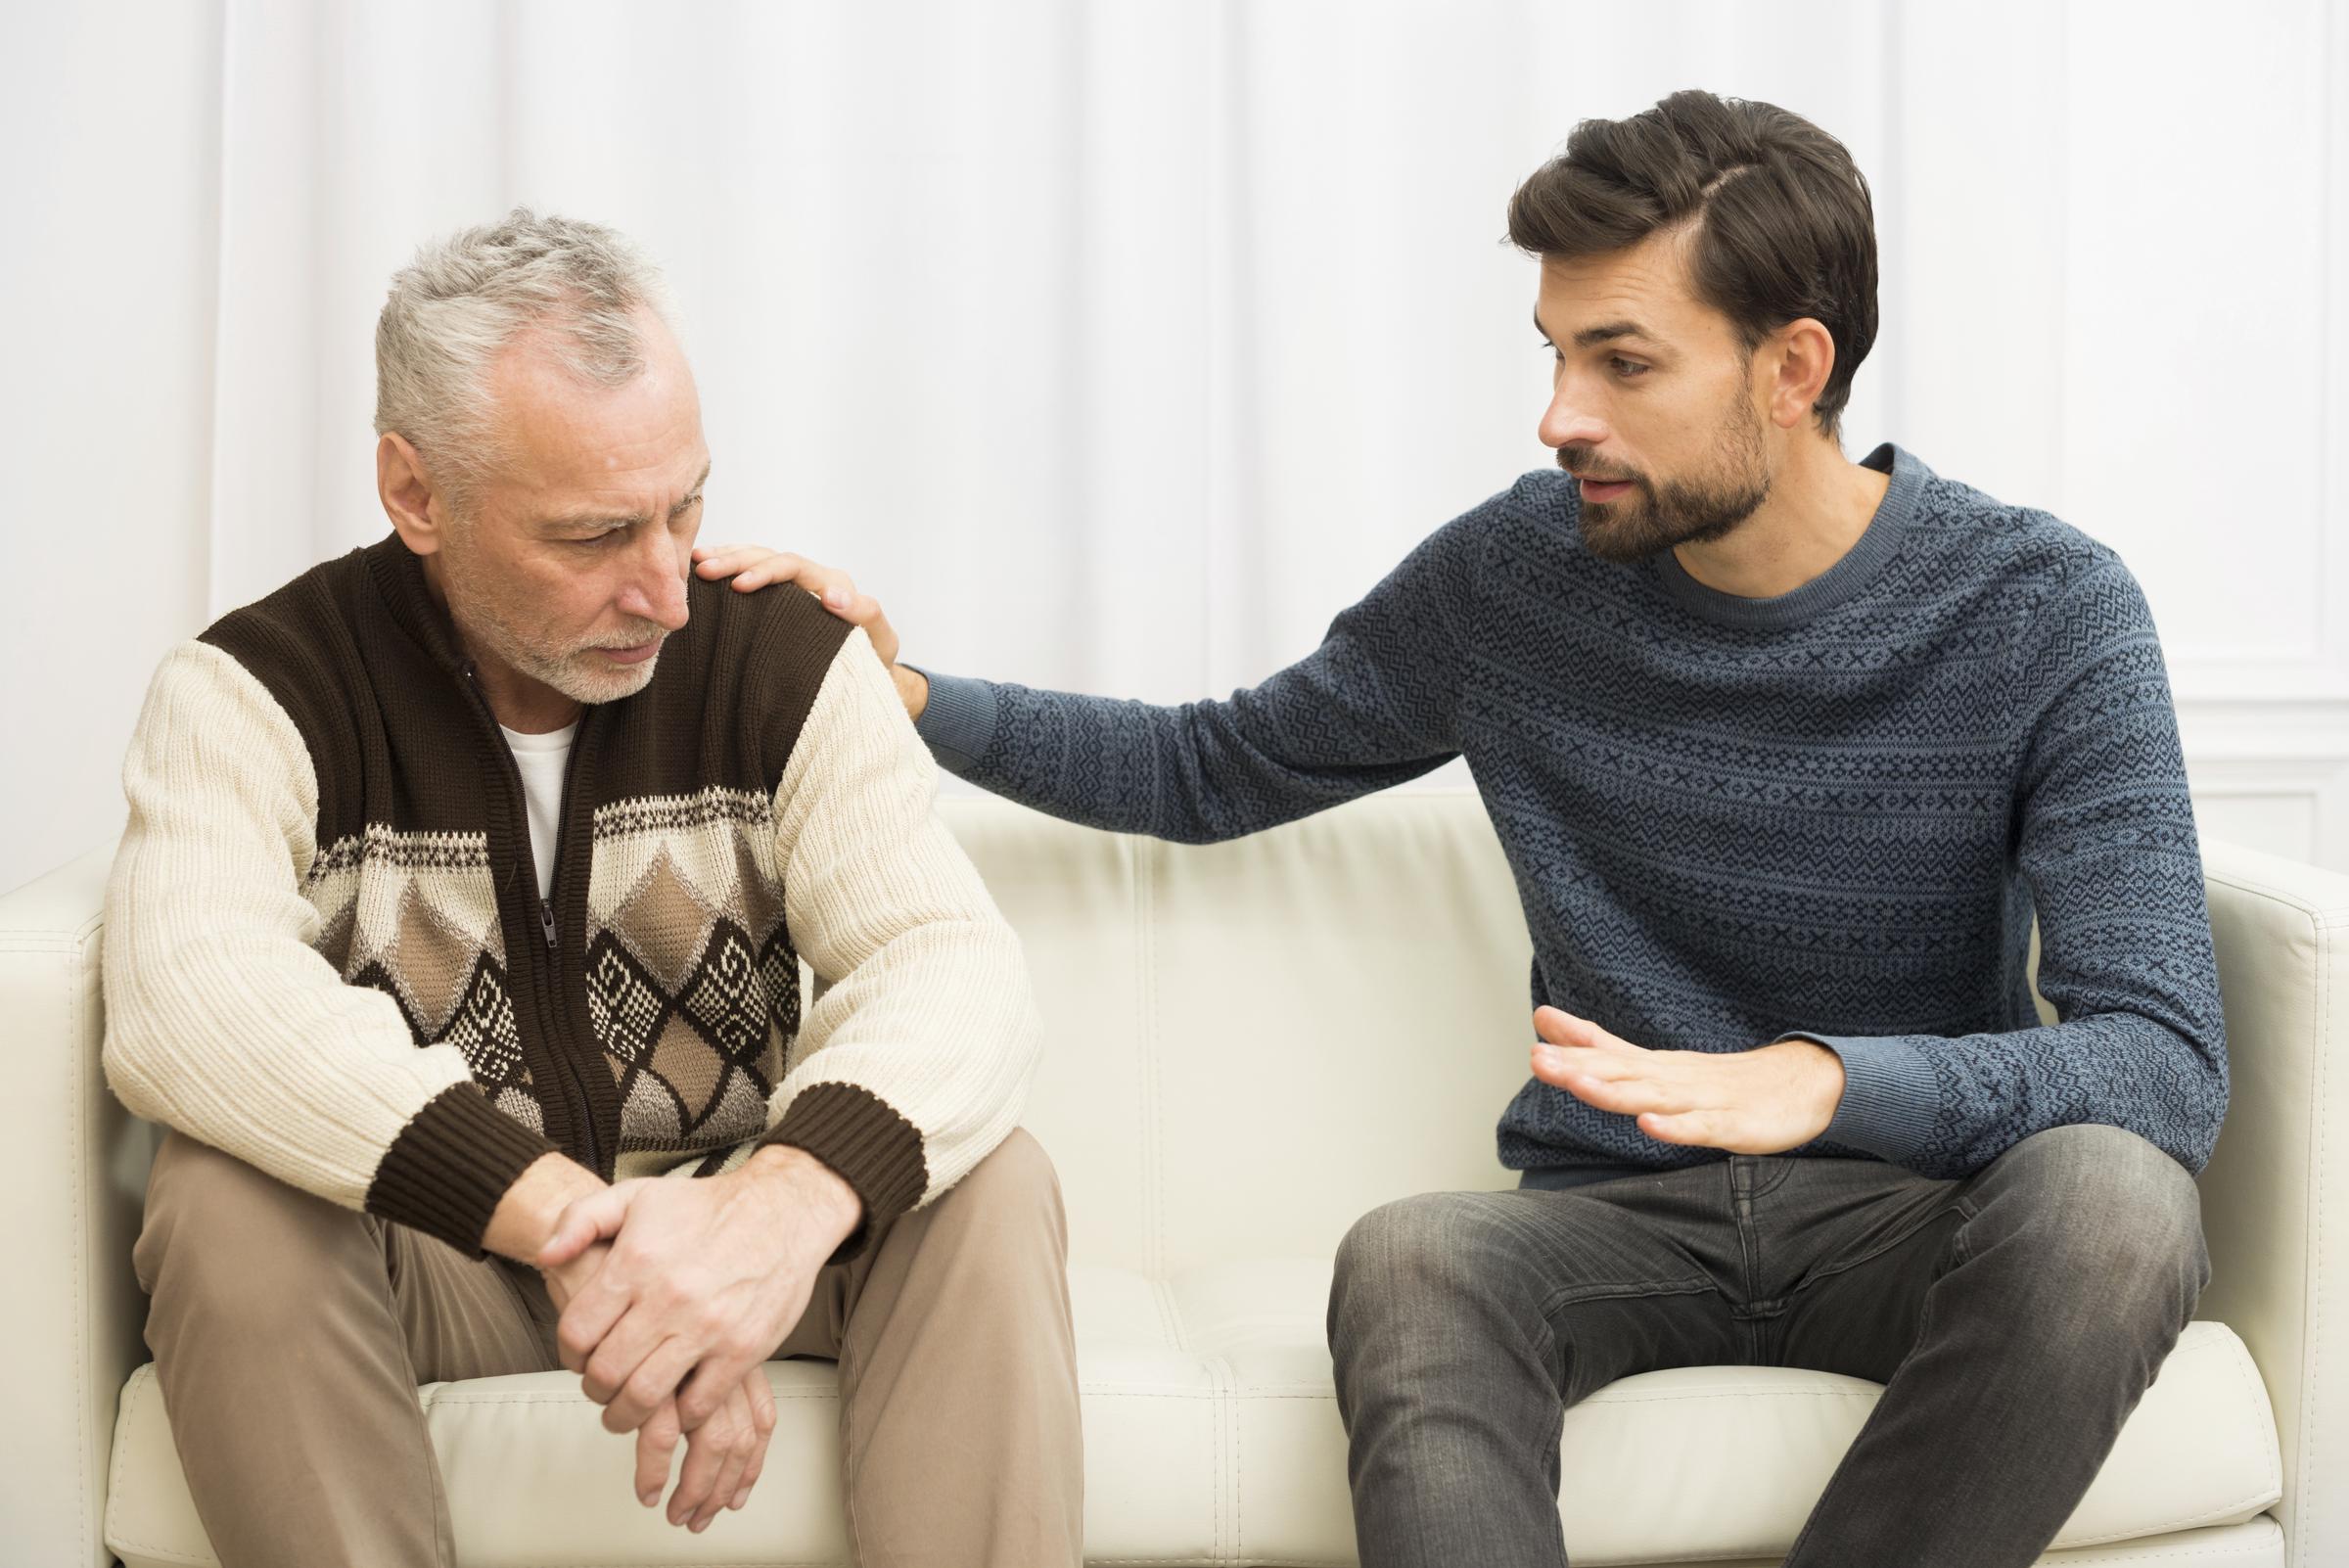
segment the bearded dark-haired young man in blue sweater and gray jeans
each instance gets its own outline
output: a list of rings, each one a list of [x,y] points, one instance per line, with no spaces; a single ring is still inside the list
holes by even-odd
[[[1339,1251],[1365,1563],[1564,1563],[1564,1408],[1684,1364],[1886,1385],[1790,1568],[2030,1563],[2208,1282],[2225,1026],[2145,599],[2044,512],[1844,458],[1877,251],[1818,127],[1703,92],[1588,122],[1510,235],[1557,467],[1313,655],[1186,707],[900,695],[963,777],[1189,843],[1468,758],[1534,937],[1522,1185]],[[742,580],[895,657],[839,573]]]

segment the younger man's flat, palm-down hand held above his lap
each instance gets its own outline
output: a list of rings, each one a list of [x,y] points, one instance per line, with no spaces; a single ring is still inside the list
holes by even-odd
[[[1557,1007],[1534,1009],[1534,1077],[1661,1143],[1776,1155],[1828,1131],[1844,1099],[1844,1061],[1813,1040],[1658,1052]]]

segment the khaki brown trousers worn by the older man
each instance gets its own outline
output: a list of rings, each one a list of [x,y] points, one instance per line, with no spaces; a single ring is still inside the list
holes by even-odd
[[[134,1263],[171,1441],[226,1568],[456,1566],[416,1385],[559,1368],[536,1270],[467,1258],[176,1131]],[[1029,1134],[824,1268],[775,1350],[801,1354],[841,1366],[857,1563],[1083,1561],[1066,1221]],[[768,1469],[792,1460],[768,1453]]]

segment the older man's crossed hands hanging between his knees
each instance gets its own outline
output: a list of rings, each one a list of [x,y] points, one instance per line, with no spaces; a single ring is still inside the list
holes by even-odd
[[[561,1312],[561,1364],[608,1432],[637,1434],[639,1502],[660,1502],[679,1441],[669,1523],[700,1533],[749,1502],[775,1432],[766,1359],[862,1218],[846,1181],[787,1145],[723,1176],[594,1183],[561,1209],[529,1261]]]

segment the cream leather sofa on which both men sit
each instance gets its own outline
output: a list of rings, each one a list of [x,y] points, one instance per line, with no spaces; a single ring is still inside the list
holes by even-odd
[[[1475,798],[1207,850],[947,812],[1048,1021],[1029,1124],[1069,1197],[1092,1561],[1353,1563],[1330,1258],[1379,1202],[1508,1185],[1492,1129],[1525,1075],[1527,937]],[[2349,878],[2203,857],[2234,1049],[2201,1181],[2215,1277],[2046,1563],[2349,1563]],[[214,1561],[139,1338],[155,1134],[99,1075],[106,861],[0,899],[9,1566]],[[576,1378],[420,1390],[465,1563],[846,1563],[832,1368],[770,1378],[766,1479],[700,1537],[630,1500],[630,1448]],[[1567,1415],[1576,1566],[1776,1563],[1877,1394],[1750,1366],[1616,1383]]]

